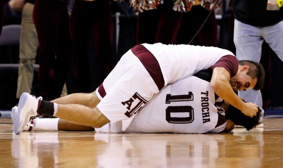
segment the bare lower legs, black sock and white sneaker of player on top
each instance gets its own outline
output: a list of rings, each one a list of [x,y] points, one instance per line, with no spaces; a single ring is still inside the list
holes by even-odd
[[[85,98],[84,101],[86,101],[88,100],[87,98],[90,98],[90,100],[93,100],[93,98],[88,95],[91,94],[77,94],[77,96],[70,95],[65,99],[56,99],[55,102],[63,102],[63,100],[65,100],[66,102],[77,102],[92,106],[90,105],[91,103],[84,103],[78,99]],[[74,98],[74,100],[72,100],[72,98]],[[95,106],[96,103],[98,103],[98,101],[94,101]],[[42,98],[36,98],[28,93],[23,93],[19,101],[18,111],[13,113],[14,132],[20,134],[28,123],[30,117],[36,115],[55,116],[74,124],[91,126],[94,128],[100,128],[110,122],[96,107],[90,108],[80,104],[57,104],[44,101]]]

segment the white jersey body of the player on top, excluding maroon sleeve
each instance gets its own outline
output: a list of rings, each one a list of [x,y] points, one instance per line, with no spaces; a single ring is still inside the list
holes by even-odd
[[[157,59],[165,85],[192,76],[208,69],[221,57],[232,52],[217,47],[192,45],[165,45],[162,43],[142,44]]]

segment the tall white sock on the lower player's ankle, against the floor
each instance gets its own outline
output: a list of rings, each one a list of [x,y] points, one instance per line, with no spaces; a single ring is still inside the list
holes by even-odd
[[[34,119],[33,131],[58,131],[59,118],[36,118]]]

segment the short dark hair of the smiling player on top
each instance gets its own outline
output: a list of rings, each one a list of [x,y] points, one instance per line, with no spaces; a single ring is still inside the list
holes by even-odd
[[[263,87],[265,78],[265,71],[263,66],[258,62],[249,60],[241,60],[239,61],[239,65],[249,65],[249,71],[247,72],[247,75],[252,77],[252,79],[257,78],[257,84],[253,87],[253,89],[260,90]]]

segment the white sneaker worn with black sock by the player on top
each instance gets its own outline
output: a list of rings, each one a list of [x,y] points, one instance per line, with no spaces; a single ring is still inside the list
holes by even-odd
[[[38,101],[42,100],[42,97],[35,97],[28,93],[23,93],[20,97],[18,110],[13,112],[11,118],[13,120],[13,131],[15,134],[20,134],[24,127],[29,123],[30,117],[37,115]],[[13,107],[14,108],[14,107]]]

